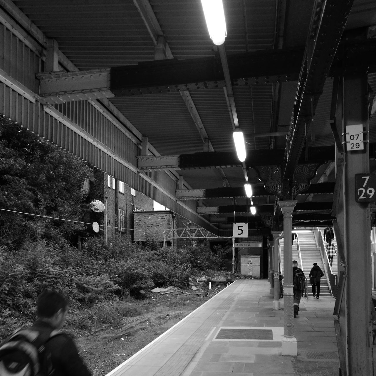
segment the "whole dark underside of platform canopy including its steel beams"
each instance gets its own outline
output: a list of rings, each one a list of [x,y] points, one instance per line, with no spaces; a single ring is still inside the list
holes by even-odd
[[[15,20],[26,35],[41,32],[67,61],[37,74],[45,104],[101,103],[127,132],[142,135],[135,169],[173,171],[176,199],[195,202],[211,230],[230,230],[239,220],[271,226],[282,199],[298,201],[293,225],[326,225],[343,138],[335,118],[338,77],[366,71],[370,115],[376,107],[376,2],[223,6],[227,37],[217,46],[200,0],[0,2],[3,21]],[[236,130],[244,134],[244,162]]]

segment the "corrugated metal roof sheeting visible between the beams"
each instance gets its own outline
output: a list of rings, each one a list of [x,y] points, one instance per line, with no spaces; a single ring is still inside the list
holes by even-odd
[[[80,70],[108,68],[153,61],[155,46],[135,3],[137,0],[14,0]],[[206,29],[200,0],[149,0],[156,22],[175,59],[218,54]],[[255,50],[304,48],[314,2],[290,0],[223,0],[226,15],[227,55]],[[286,5],[285,19],[281,6]],[[375,23],[376,2],[355,0],[347,29]],[[280,25],[279,22],[285,22]],[[280,44],[279,44],[280,45]],[[376,92],[376,75],[369,83]],[[250,133],[287,131],[293,112],[296,82],[234,87],[233,96],[240,128],[246,134],[247,151],[270,147],[270,137],[252,138]],[[279,97],[275,97],[278,96]],[[329,126],[332,80],[327,79],[314,115],[314,146],[333,144]],[[234,150],[232,123],[223,89],[192,90],[190,96],[208,138],[217,152]],[[273,106],[278,102],[276,107]],[[133,124],[161,155],[203,151],[203,140],[179,93],[117,97],[112,104]],[[277,117],[276,124],[273,117]],[[370,120],[370,139],[376,140],[376,116]],[[287,126],[287,127],[286,127]],[[248,134],[248,136],[247,136]],[[284,148],[284,136],[276,138]],[[231,186],[244,184],[241,168],[224,168]],[[192,188],[223,186],[218,168],[178,171]],[[250,170],[252,182],[257,175]],[[173,188],[171,188],[173,190]],[[271,196],[274,197],[274,196]],[[224,200],[210,200],[225,202]],[[208,200],[209,202],[209,200]],[[207,202],[207,204],[208,204]]]

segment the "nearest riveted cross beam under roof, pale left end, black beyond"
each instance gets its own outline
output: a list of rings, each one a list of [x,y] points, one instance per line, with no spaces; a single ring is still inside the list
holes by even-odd
[[[368,67],[368,73],[374,73],[375,52],[376,41],[373,39],[359,43],[350,42],[346,44],[346,49],[341,49],[341,54],[338,53],[335,57],[327,75],[332,76],[342,66],[349,73],[356,72],[363,66]],[[301,50],[265,50],[227,55],[233,86],[297,80],[302,56]],[[362,58],[356,59],[357,56]],[[77,78],[82,75],[84,79]],[[52,72],[38,73],[36,76],[41,82],[39,94],[50,104],[80,98],[158,94],[225,86],[221,63],[215,57],[180,61],[156,60],[125,67],[80,71],[76,72],[76,75],[73,72]],[[58,78],[59,82],[56,82]],[[117,82],[113,82],[114,80]]]

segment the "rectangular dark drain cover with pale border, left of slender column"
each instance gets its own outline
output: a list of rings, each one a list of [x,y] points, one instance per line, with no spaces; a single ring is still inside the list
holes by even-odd
[[[281,341],[283,327],[220,327],[213,340],[218,341]]]

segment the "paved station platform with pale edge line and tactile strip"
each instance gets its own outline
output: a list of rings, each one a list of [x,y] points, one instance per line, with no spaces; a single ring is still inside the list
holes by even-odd
[[[338,375],[333,297],[302,297],[297,356],[282,355],[268,280],[237,280],[107,376]]]

